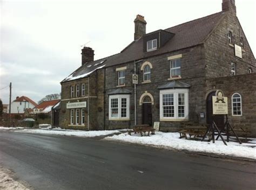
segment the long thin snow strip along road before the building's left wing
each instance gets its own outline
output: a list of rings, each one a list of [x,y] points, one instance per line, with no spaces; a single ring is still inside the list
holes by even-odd
[[[82,131],[82,130],[71,130],[71,129],[24,129],[16,132],[25,132],[25,133],[40,133],[40,134],[49,134],[49,135],[65,135],[65,136],[77,136],[77,137],[97,137],[110,135],[119,130],[107,130],[107,131]]]

